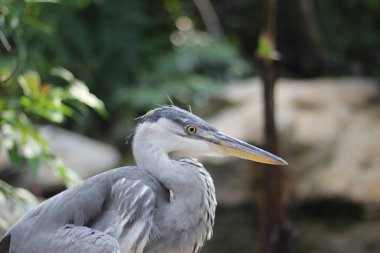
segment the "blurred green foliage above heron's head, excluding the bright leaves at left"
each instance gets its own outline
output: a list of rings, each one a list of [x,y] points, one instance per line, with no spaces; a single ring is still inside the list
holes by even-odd
[[[193,25],[183,31],[176,26],[181,18],[192,22],[185,15],[195,8],[191,4],[81,2],[25,4],[27,19],[33,21],[25,22],[15,44],[28,52],[25,65],[42,78],[50,79],[51,66],[65,66],[104,101],[111,112],[107,124],[96,117],[81,122],[91,135],[111,132],[115,140],[123,139],[141,112],[167,103],[168,95],[177,103],[201,106],[221,83],[249,72],[228,43],[214,41]],[[95,122],[102,128],[92,127]]]

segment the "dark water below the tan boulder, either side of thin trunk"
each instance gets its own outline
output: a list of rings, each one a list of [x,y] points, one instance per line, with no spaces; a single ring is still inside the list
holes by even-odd
[[[380,253],[380,217],[365,218],[352,208],[311,206],[291,212],[295,227],[292,252]],[[214,237],[202,253],[258,252],[255,208],[220,209],[216,218]]]

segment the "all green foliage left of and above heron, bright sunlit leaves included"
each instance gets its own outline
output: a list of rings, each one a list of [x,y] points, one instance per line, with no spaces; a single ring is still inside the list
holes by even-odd
[[[95,115],[80,121],[84,131],[111,132],[120,140],[141,112],[167,103],[167,96],[201,107],[222,82],[249,72],[234,47],[195,28],[193,20],[198,26],[201,20],[187,13],[196,17],[195,7],[180,0],[2,1],[1,31],[13,50],[0,47],[0,76],[12,72],[15,59],[20,63],[17,76],[1,88],[2,145],[12,160],[20,153],[34,169],[40,155],[53,161],[34,124],[83,115],[75,101],[105,113],[73,74],[110,109],[107,123]],[[31,145],[39,145],[38,152],[25,154]]]

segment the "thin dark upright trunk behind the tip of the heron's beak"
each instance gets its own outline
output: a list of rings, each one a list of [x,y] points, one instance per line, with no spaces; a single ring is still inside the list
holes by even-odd
[[[265,148],[278,154],[274,87],[279,76],[280,55],[276,51],[276,0],[266,0],[266,16],[255,55],[255,64],[264,85]],[[266,165],[262,172],[259,203],[260,253],[289,253],[291,230],[283,191],[284,171]]]

